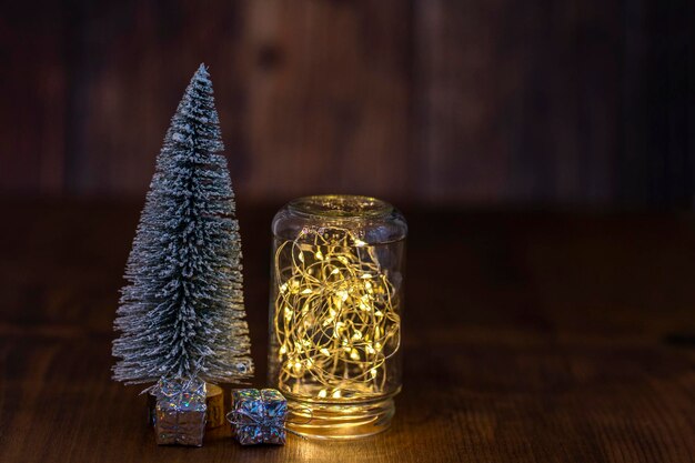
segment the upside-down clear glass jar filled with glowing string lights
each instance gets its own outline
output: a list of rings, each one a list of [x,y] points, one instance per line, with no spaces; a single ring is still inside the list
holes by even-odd
[[[282,208],[272,231],[269,376],[288,427],[384,431],[401,390],[405,219],[374,198],[316,195]]]

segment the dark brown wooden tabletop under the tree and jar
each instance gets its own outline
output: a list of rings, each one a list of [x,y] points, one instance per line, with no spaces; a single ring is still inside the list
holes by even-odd
[[[161,447],[110,379],[139,204],[3,201],[0,462],[693,462],[695,221],[409,210],[404,385],[386,433]],[[269,223],[240,204],[264,384]]]

